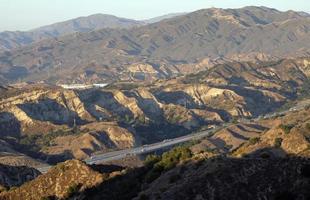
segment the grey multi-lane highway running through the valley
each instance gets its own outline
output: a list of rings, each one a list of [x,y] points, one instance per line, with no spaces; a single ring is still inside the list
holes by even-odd
[[[307,101],[306,103],[301,103],[301,104],[297,104],[296,106],[290,108],[289,110],[286,111],[281,111],[281,112],[274,112],[272,114],[267,114],[264,116],[259,116],[255,119],[242,119],[240,120],[240,122],[244,122],[244,123],[249,123],[251,121],[258,121],[261,119],[270,119],[273,117],[277,117],[277,116],[283,116],[289,112],[294,112],[294,111],[298,111],[298,110],[302,110],[305,109],[306,106],[310,105],[310,101]],[[202,131],[202,132],[198,132],[198,133],[193,133],[193,134],[189,134],[186,136],[182,136],[182,137],[177,137],[174,139],[167,139],[164,140],[162,142],[157,142],[157,143],[153,143],[153,144],[149,144],[149,145],[143,145],[140,147],[135,147],[135,148],[130,148],[130,149],[124,149],[124,150],[118,150],[118,151],[113,151],[113,152],[108,152],[108,153],[103,153],[103,154],[98,154],[98,155],[94,155],[86,160],[84,160],[87,164],[99,164],[102,162],[107,162],[107,161],[112,161],[112,160],[119,160],[122,158],[125,158],[127,156],[135,156],[135,155],[140,155],[140,154],[144,154],[144,153],[150,153],[159,149],[163,149],[165,147],[169,147],[169,146],[173,146],[176,144],[181,144],[187,141],[191,141],[191,140],[195,140],[195,139],[201,139],[203,137],[208,137],[211,134],[213,134],[214,132],[219,131],[220,129],[223,129],[225,127],[228,127],[229,125],[231,125],[231,123],[223,123],[221,124],[221,126],[215,127],[214,129],[211,130],[207,130],[207,131]],[[52,166],[48,166],[48,167],[41,167],[41,168],[37,168],[41,173],[46,173]]]

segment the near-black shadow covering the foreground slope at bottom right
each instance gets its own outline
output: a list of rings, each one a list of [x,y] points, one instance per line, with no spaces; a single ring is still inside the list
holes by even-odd
[[[145,182],[149,172],[147,167],[131,169],[126,174],[116,176],[104,181],[97,187],[87,189],[83,192],[83,196],[86,197],[84,199],[94,200],[127,200],[137,197],[139,193],[150,188],[152,193],[165,193],[165,191],[172,189],[171,192],[174,194],[172,199],[189,200],[195,199],[197,195],[203,197],[200,199],[213,197],[214,199],[227,200],[257,199],[260,195],[263,195],[265,199],[274,200],[309,199],[310,160],[294,156],[289,157],[287,154],[285,157],[262,154],[274,150],[275,148],[261,149],[244,158],[219,155],[200,161],[193,160],[178,165],[173,170],[163,172],[161,177],[166,178],[159,180],[159,182],[157,180],[161,178],[157,178],[155,179],[156,183],[154,181]],[[281,148],[278,148],[277,151],[284,152]],[[212,173],[204,172],[215,164],[217,168]],[[117,168],[115,169],[117,170]],[[189,171],[188,174],[187,171]],[[191,175],[190,179],[188,175]],[[172,177],[177,177],[177,179],[174,180]],[[187,177],[186,182],[182,182],[183,177]],[[166,182],[167,178],[170,182]],[[152,183],[155,185],[162,184],[165,190],[153,191]],[[179,187],[175,187],[176,183]],[[209,190],[210,187],[213,189]],[[264,188],[269,189],[264,190]],[[158,190],[158,187],[155,186],[155,189]],[[225,192],[223,193],[223,191]]]

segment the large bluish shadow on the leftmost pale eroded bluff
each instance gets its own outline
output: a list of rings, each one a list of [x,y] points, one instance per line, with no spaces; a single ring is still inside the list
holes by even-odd
[[[25,103],[18,105],[30,118],[38,121],[50,121],[53,124],[68,124],[73,126],[83,125],[86,122],[82,120],[76,112],[73,112],[53,99],[42,99],[37,103]],[[74,122],[75,121],[75,122]]]

